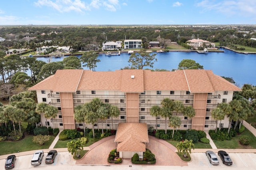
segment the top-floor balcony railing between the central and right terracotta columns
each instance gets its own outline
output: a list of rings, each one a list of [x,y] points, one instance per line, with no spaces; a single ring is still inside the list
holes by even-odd
[[[194,96],[192,95],[139,95],[139,99],[179,99],[179,100],[192,100]]]

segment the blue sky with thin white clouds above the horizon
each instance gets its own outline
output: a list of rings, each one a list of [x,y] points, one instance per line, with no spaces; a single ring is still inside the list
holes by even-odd
[[[256,0],[2,0],[0,25],[256,24]]]

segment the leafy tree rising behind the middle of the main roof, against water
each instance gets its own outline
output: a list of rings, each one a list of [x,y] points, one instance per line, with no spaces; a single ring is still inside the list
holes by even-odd
[[[132,53],[128,60],[132,69],[143,69],[144,67],[153,68],[154,62],[156,61],[156,53],[148,53],[146,52],[146,49],[141,49],[137,53]]]

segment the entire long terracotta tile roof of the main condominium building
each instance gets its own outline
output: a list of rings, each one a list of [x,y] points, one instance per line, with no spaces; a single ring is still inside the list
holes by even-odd
[[[134,78],[132,78],[134,76]],[[58,70],[29,90],[75,92],[76,90],[117,90],[121,92],[190,91],[241,91],[211,70]]]

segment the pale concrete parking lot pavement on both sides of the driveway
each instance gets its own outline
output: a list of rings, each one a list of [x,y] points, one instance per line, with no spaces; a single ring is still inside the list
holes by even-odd
[[[32,154],[31,155],[25,155],[25,156],[17,156],[17,160],[15,162],[14,170],[21,170],[21,169],[28,169],[28,168],[40,168],[40,169],[49,169],[50,167],[54,166],[54,169],[67,169],[68,167],[77,167],[80,165],[76,165],[76,161],[72,159],[72,156],[68,152],[58,152],[58,155],[56,156],[56,159],[54,163],[52,164],[45,164],[44,160],[47,153],[44,153],[43,162],[42,164],[38,166],[32,166],[30,164]],[[220,157],[218,156],[218,153],[216,153],[218,159],[220,160]],[[232,167],[234,169],[241,169],[241,168],[247,168],[247,169],[253,169],[256,167],[256,154],[255,153],[229,153],[230,158],[233,161],[233,164],[231,166],[224,165],[222,161],[220,160],[219,165],[212,165],[210,164],[209,160],[206,157],[205,153],[192,153],[192,161],[188,163],[188,166],[190,168],[210,168],[210,167],[218,167],[218,168],[225,168],[225,167]],[[4,164],[5,159],[0,160],[0,165],[2,165],[2,168],[4,170]],[[135,165],[132,165],[134,169]],[[58,167],[58,168],[57,168]],[[95,167],[95,166],[94,166]],[[153,166],[154,167],[154,166]],[[150,167],[153,168],[152,166]],[[96,168],[96,167],[95,167]],[[127,167],[126,167],[127,168]],[[179,168],[179,166],[177,166]],[[183,167],[185,168],[185,167]],[[50,168],[52,169],[52,168]],[[122,168],[123,169],[123,168]],[[157,169],[157,167],[156,167]]]

